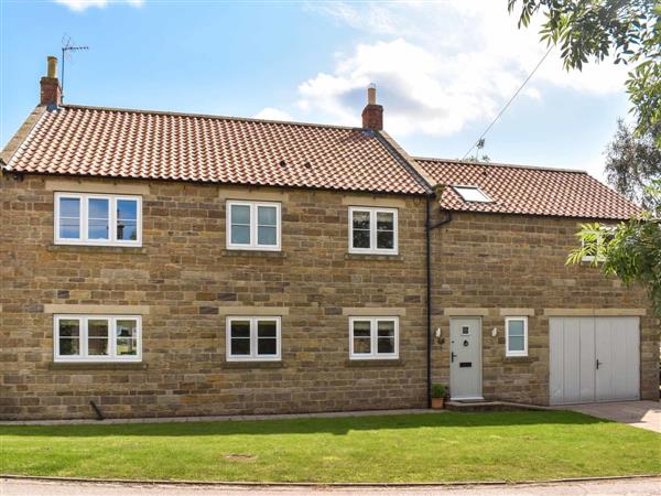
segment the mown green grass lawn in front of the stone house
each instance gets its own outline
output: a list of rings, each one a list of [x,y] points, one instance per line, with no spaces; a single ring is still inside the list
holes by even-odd
[[[661,473],[661,435],[563,411],[0,427],[3,474],[262,482]]]

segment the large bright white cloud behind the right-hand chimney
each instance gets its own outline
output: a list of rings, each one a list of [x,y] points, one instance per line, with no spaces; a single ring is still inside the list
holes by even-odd
[[[299,86],[299,109],[358,125],[365,89],[376,83],[387,128],[398,136],[454,134],[494,117],[546,51],[539,25],[517,29],[516,17],[494,0],[306,7],[380,41],[335,54],[332,72]],[[553,51],[518,103],[543,99],[552,87],[613,94],[621,91],[625,77],[626,67],[608,62],[567,73]]]

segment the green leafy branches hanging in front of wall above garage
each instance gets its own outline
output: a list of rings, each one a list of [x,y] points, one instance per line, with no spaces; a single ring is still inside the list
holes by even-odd
[[[567,257],[567,263],[590,263],[603,273],[617,276],[625,283],[642,284],[661,316],[661,180],[648,187],[649,208],[617,226],[583,224],[576,234],[581,246]]]

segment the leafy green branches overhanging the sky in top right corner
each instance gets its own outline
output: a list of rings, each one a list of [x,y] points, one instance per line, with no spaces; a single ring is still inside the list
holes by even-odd
[[[508,0],[521,3],[519,28],[542,13],[540,35],[559,45],[565,68],[581,71],[590,60],[613,56],[630,64],[627,91],[643,136],[661,121],[661,2],[659,0]],[[661,136],[655,137],[661,148]]]

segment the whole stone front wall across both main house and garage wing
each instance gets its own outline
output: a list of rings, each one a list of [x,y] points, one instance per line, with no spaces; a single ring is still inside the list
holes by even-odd
[[[141,194],[143,246],[53,245],[54,191]],[[422,197],[39,175],[6,175],[0,194],[2,419],[93,418],[90,400],[116,418],[426,405]],[[226,250],[228,198],[281,202],[282,251]],[[399,207],[398,256],[347,252],[349,205]],[[452,309],[481,315],[485,397],[540,405],[546,309],[648,309],[641,395],[658,398],[658,321],[640,288],[564,265],[577,224],[455,213],[434,230],[434,381],[448,382]],[[53,312],[71,305],[141,313],[142,363],[53,363]],[[282,363],[226,362],[226,315],[252,308],[282,315]],[[400,315],[400,359],[349,360],[351,309]],[[505,357],[507,309],[531,312],[527,358]]]

